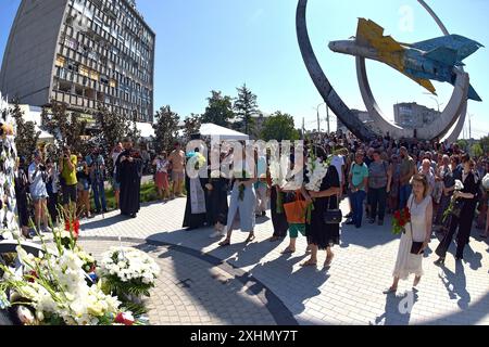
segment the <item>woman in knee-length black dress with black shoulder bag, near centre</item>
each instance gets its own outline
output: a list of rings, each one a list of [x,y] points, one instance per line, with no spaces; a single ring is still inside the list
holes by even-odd
[[[317,147],[316,156],[326,159],[326,153]],[[304,192],[305,193],[305,192]],[[305,234],[311,249],[311,258],[302,266],[317,265],[317,250],[326,250],[326,261],[324,267],[331,265],[335,254],[331,250],[334,245],[339,244],[339,224],[326,224],[324,214],[327,209],[338,208],[337,195],[340,193],[340,181],[338,171],[334,166],[329,166],[326,176],[323,178],[319,192],[309,191],[304,194],[306,201],[313,200],[314,209],[311,213],[311,221],[305,224]]]

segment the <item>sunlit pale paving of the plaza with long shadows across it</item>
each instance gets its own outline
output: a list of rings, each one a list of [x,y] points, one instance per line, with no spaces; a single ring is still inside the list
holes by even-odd
[[[344,202],[341,207],[344,211],[348,210]],[[297,247],[300,252],[297,255],[283,258],[279,252],[285,248],[288,241],[269,244],[267,239],[272,235],[273,230],[271,220],[256,226],[256,241],[252,244],[246,246],[242,242],[247,234],[235,232],[231,246],[221,249],[216,244],[218,240],[209,237],[213,232],[211,229],[201,229],[195,232],[181,230],[184,209],[185,200],[175,200],[166,205],[143,206],[138,218],[134,220],[121,219],[116,213],[106,214],[105,219],[97,217],[89,221],[83,221],[82,240],[84,236],[118,235],[140,240],[158,240],[199,253],[208,252],[222,260],[228,259],[228,262],[251,272],[258,281],[266,285],[289,311],[293,312],[300,324],[367,324],[369,320],[375,321],[377,317],[384,314],[388,317],[385,319],[386,324],[413,324],[419,319],[423,319],[419,321],[422,324],[438,324],[439,322],[487,324],[489,321],[487,242],[475,239],[471,241],[472,250],[467,250],[462,268],[455,265],[452,256],[447,258],[443,270],[432,265],[432,260],[435,260],[432,253],[429,257],[425,257],[423,260],[425,275],[416,294],[418,299],[414,305],[413,314],[403,317],[398,311],[398,305],[402,297],[386,297],[381,294],[391,284],[391,273],[399,247],[399,237],[392,235],[389,230],[388,217],[386,217],[385,227],[364,224],[360,231],[356,231],[350,226],[343,226],[342,246],[334,247],[336,258],[326,273],[322,271],[324,252],[318,255],[319,267],[317,270],[299,267],[299,264],[306,259],[302,253],[306,246],[304,237],[298,239]],[[103,247],[106,247],[103,242],[97,243],[102,243]],[[114,242],[112,241],[112,243]],[[437,245],[438,240],[434,239],[430,249],[435,249]],[[187,254],[181,255],[175,250],[163,249],[163,247],[155,249],[161,250],[154,256],[160,257],[158,258],[159,262],[165,264],[166,271],[154,294],[153,305],[155,307],[165,305],[180,307],[186,303],[184,306],[190,305],[199,312],[209,310],[212,323],[223,323],[220,314],[227,312],[226,306],[231,307],[234,311],[241,307],[243,312],[250,316],[249,306],[251,305],[258,312],[265,312],[266,319],[262,316],[264,321],[274,321],[263,301],[251,300],[250,298],[255,298],[253,293],[242,291],[241,282],[237,281],[228,285],[220,283],[216,286],[217,281],[210,275],[213,273],[211,270],[215,268],[209,262]],[[152,255],[153,252],[155,252],[154,248],[151,248]],[[454,245],[450,252],[454,252]],[[174,282],[170,281],[177,280],[178,282],[183,277],[195,279],[192,291],[183,291],[175,287]],[[412,277],[408,282],[401,281],[399,293],[411,291],[412,281]],[[449,283],[447,284],[447,282]],[[452,296],[449,291],[453,291]],[[203,293],[206,295],[202,295]],[[180,299],[172,299],[175,295]],[[192,295],[198,295],[198,303],[202,303],[201,306],[197,307]],[[226,295],[233,298],[229,303],[224,299]],[[469,301],[466,300],[468,297]],[[153,295],[151,299],[153,299]],[[242,300],[247,304],[234,305]],[[312,306],[305,304],[309,300],[313,300]],[[317,310],[318,307],[321,308]],[[416,312],[424,312],[425,316],[416,316]],[[341,320],[336,314],[341,314]],[[253,319],[260,319],[260,317],[259,313],[253,316]],[[367,318],[368,320],[365,321]]]

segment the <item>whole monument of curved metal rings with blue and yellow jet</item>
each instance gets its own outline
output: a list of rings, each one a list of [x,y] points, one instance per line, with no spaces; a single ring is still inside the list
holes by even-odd
[[[362,140],[389,133],[397,139],[434,140],[444,138],[455,141],[465,121],[467,100],[481,101],[481,98],[469,85],[469,76],[464,72],[462,61],[482,46],[463,36],[450,35],[426,2],[423,0],[418,0],[418,2],[437,22],[443,37],[413,44],[401,43],[390,36],[384,36],[384,28],[376,23],[360,18],[354,40],[329,43],[333,51],[355,56],[358,81],[363,101],[371,118],[381,131],[376,133],[360,121],[355,113],[346,105],[323,72],[308,34],[305,21],[308,0],[299,0],[296,18],[297,35],[305,66],[328,107],[350,131]],[[447,107],[434,123],[422,129],[406,129],[386,120],[371,90],[365,59],[388,64],[432,93],[436,90],[430,80],[450,82],[454,89]],[[453,127],[454,125],[455,127]]]

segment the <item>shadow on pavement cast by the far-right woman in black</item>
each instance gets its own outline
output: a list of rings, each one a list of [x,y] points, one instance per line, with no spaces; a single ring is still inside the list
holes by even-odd
[[[446,267],[442,270],[439,277],[447,288],[450,299],[457,300],[459,307],[466,310],[471,303],[471,294],[466,290],[467,279],[463,264],[461,261],[455,262],[455,272],[450,271]]]

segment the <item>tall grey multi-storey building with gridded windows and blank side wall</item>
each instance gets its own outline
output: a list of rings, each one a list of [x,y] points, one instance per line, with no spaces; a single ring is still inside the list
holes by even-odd
[[[90,117],[101,103],[152,121],[154,44],[134,0],[22,0],[0,90],[23,104],[55,100]]]

